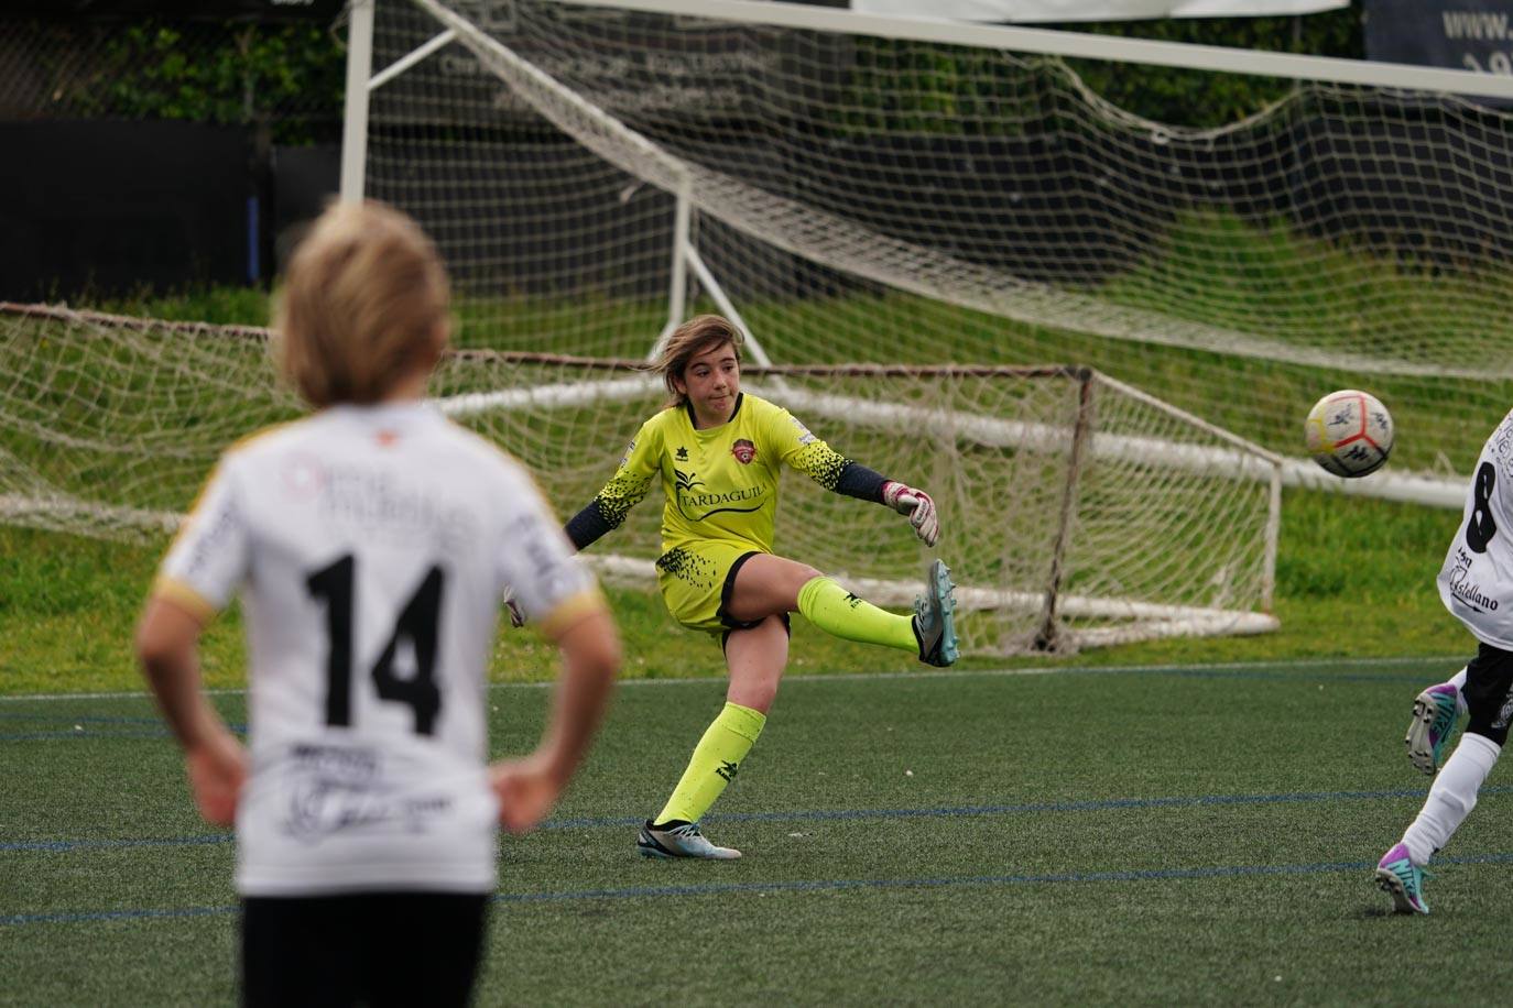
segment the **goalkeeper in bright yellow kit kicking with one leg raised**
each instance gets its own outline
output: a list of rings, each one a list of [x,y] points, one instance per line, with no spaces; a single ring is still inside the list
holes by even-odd
[[[788,614],[849,641],[915,651],[930,665],[956,660],[952,582],[930,564],[914,615],[885,612],[856,598],[806,564],[772,552],[782,464],[826,490],[888,505],[909,517],[915,535],[935,544],[929,494],[887,479],[809,434],[787,410],[740,390],[740,332],[726,319],[701,316],[681,325],[657,361],[673,402],[642,425],[604,490],[567,523],[579,550],[610,529],[660,479],[663,555],[658,586],[673,618],[720,635],[731,685],[726,704],[637,846],[646,857],[734,858],[711,843],[699,818],[735,777],[767,721],[788,662]]]

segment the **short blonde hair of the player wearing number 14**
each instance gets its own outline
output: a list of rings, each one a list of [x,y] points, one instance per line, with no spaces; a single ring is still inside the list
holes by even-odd
[[[434,363],[448,301],[421,225],[381,203],[334,203],[289,261],[274,311],[278,370],[318,408],[378,402]]]

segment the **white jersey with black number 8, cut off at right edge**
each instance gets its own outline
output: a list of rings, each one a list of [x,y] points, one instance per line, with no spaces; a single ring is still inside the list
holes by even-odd
[[[1477,459],[1439,597],[1478,641],[1513,651],[1513,413]]]

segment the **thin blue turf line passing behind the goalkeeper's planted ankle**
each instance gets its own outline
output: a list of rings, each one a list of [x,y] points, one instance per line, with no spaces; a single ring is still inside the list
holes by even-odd
[[[1393,787],[1390,790],[1316,790],[1280,795],[1186,795],[1174,798],[1094,798],[1086,801],[1039,801],[1014,805],[940,805],[926,809],[816,809],[811,812],[735,812],[711,815],[707,822],[835,822],[849,819],[952,819],[974,816],[1045,815],[1059,812],[1115,812],[1141,809],[1203,809],[1223,805],[1283,805],[1325,801],[1380,801],[1393,798],[1424,798],[1427,787]],[[1483,787],[1483,795],[1513,792],[1513,784]],[[642,825],[637,816],[592,816],[583,819],[548,819],[539,830],[601,830]],[[194,837],[124,839],[124,840],[0,840],[0,854],[45,851],[100,851],[133,846],[188,846],[195,843],[230,843],[230,833]]]

